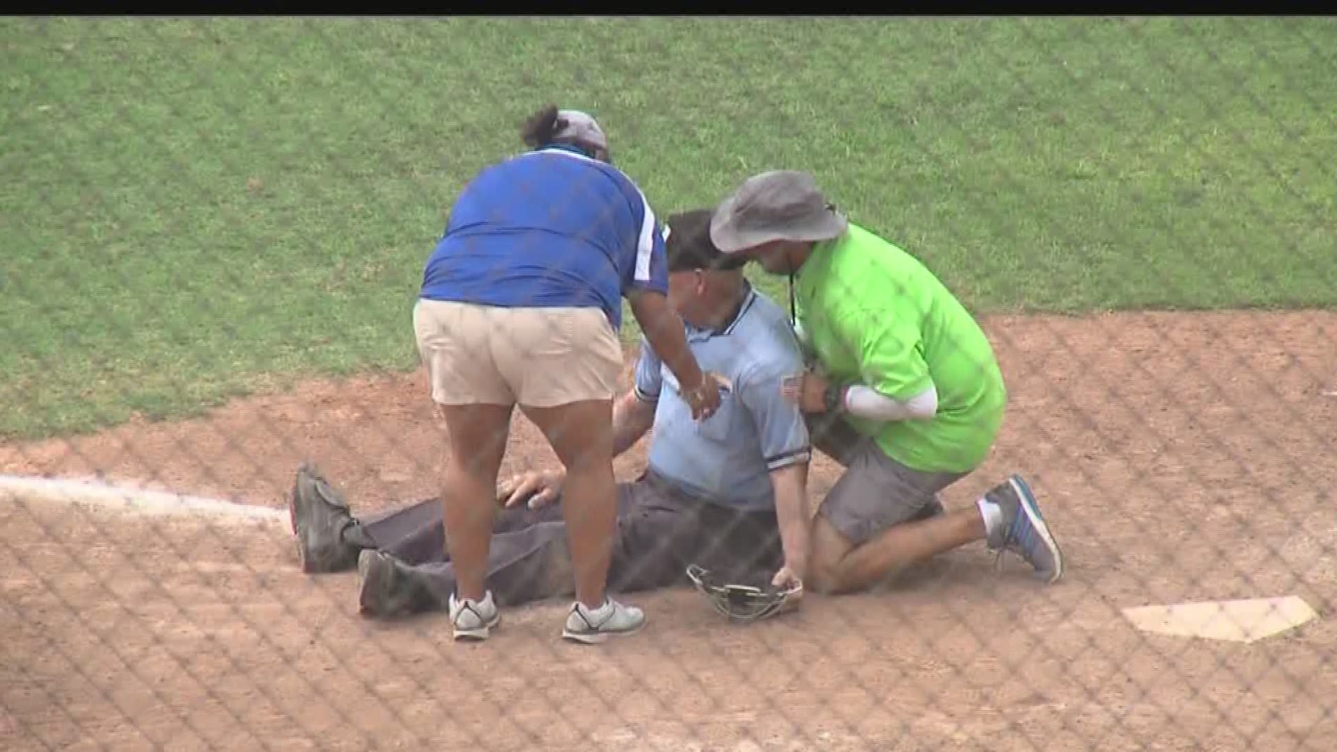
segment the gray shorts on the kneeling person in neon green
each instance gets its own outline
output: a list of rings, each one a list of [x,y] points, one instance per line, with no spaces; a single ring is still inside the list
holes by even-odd
[[[920,519],[939,506],[937,492],[967,472],[924,472],[894,459],[845,420],[808,416],[813,446],[845,466],[817,514],[858,546],[881,531]]]

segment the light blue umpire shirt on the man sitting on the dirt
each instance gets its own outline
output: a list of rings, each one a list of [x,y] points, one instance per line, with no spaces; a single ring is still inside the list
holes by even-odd
[[[673,373],[642,339],[635,392],[656,403],[650,468],[714,503],[774,508],[770,471],[812,458],[804,416],[781,395],[783,379],[804,371],[789,317],[749,289],[723,331],[689,325],[687,347],[702,369],[729,379],[731,388],[721,395],[715,415],[693,420]]]

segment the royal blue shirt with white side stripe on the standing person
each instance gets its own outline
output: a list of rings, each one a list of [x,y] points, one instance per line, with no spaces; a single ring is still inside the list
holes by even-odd
[[[602,308],[622,326],[634,288],[667,292],[664,240],[620,170],[574,149],[528,151],[464,187],[420,296],[505,308]]]

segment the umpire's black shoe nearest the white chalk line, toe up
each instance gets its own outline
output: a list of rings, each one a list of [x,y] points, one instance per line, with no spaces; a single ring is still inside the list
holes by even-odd
[[[360,549],[344,539],[344,529],[357,521],[344,496],[308,463],[297,468],[287,515],[302,571],[348,571],[357,565]]]

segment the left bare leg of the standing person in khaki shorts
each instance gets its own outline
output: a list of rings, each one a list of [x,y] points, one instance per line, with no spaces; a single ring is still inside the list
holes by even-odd
[[[455,563],[457,595],[481,601],[496,514],[496,484],[512,405],[443,405],[451,456],[441,479],[445,545]]]

